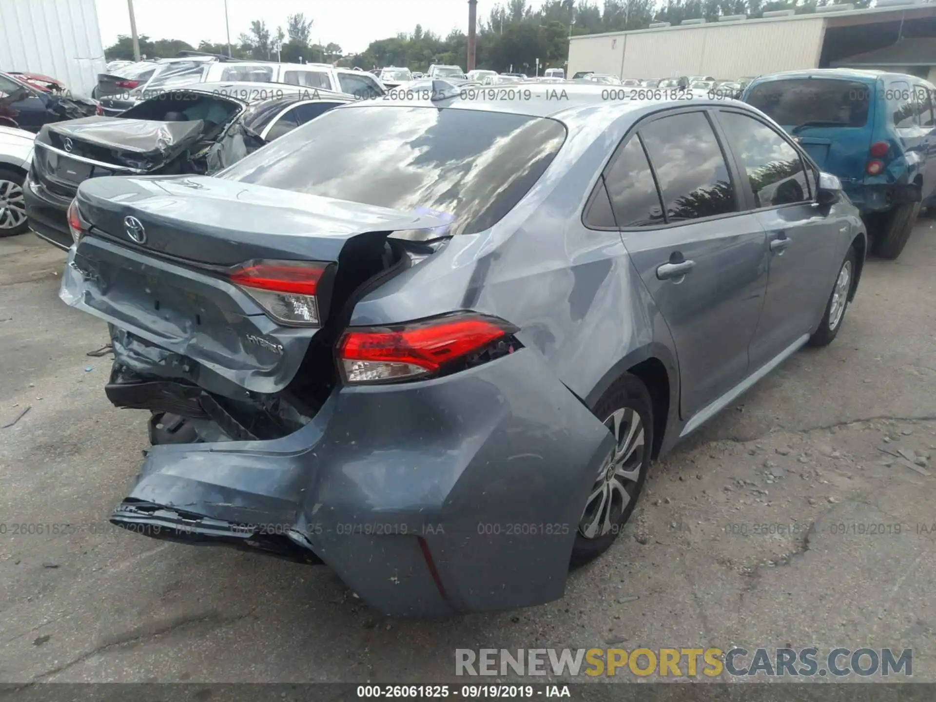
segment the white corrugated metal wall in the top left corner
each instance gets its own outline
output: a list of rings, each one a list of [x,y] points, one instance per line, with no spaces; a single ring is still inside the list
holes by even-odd
[[[90,95],[104,66],[95,0],[0,0],[0,70],[42,73]]]

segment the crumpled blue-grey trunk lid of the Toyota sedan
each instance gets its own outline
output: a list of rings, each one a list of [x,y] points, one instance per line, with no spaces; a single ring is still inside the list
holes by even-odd
[[[95,179],[81,185],[78,201],[92,227],[69,253],[62,300],[141,340],[135,372],[182,378],[235,400],[243,390],[285,389],[321,328],[274,321],[227,279],[227,267],[258,258],[336,264],[335,284],[322,294],[337,297],[345,261],[348,271],[358,263],[341,257],[349,241],[379,240],[382,251],[393,231],[446,224],[203,176]],[[143,243],[131,241],[128,216],[145,231]],[[139,228],[134,233],[139,239]]]

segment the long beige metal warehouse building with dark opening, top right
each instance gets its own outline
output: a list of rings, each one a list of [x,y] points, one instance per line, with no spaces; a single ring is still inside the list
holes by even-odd
[[[936,79],[936,63],[929,63],[936,61],[936,4],[879,0],[869,9],[819,9],[572,37],[568,75],[588,70],[625,79],[728,80],[797,68],[860,66]]]

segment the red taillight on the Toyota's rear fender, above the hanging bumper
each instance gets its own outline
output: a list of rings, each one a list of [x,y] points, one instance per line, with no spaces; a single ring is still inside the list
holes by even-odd
[[[347,383],[412,379],[513,353],[519,348],[516,331],[496,317],[449,314],[397,327],[348,329],[337,356]]]

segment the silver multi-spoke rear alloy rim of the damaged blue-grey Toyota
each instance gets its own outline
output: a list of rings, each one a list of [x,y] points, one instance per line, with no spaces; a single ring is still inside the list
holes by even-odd
[[[611,532],[636,493],[643,470],[643,422],[636,411],[622,407],[605,420],[614,436],[614,450],[608,454],[585,503],[578,532],[585,538],[599,538]]]

